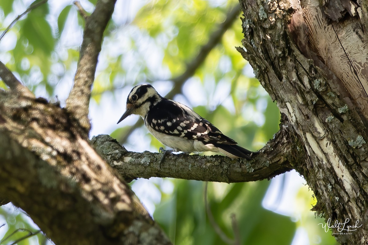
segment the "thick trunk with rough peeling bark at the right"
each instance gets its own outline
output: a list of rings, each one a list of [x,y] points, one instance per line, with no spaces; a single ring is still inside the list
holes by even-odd
[[[367,244],[367,1],[240,3],[238,50],[301,142],[291,165],[314,191],[314,210],[331,225],[358,220],[356,231],[333,233],[342,244]]]

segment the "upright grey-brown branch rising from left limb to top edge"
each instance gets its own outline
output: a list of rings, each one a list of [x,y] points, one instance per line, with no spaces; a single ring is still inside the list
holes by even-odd
[[[114,11],[115,2],[116,0],[97,1],[95,11],[86,19],[74,86],[66,101],[67,110],[73,114],[86,132],[91,129],[88,108],[103,32]]]

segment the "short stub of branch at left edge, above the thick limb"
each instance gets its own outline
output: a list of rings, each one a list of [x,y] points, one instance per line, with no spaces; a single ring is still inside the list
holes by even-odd
[[[0,61],[0,78],[3,82],[19,96],[25,96],[29,98],[35,98],[35,95],[24,86],[14,74],[6,67],[6,65]]]

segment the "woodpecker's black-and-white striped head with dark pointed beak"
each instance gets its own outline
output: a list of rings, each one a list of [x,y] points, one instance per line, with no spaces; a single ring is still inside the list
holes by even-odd
[[[156,105],[162,97],[157,93],[151,84],[139,84],[129,93],[127,98],[127,109],[117,123],[120,123],[127,116],[135,114],[143,118],[149,109]]]

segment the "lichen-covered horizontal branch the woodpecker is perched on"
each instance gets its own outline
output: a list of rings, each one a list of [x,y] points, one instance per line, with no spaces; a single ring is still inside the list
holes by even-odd
[[[187,180],[244,182],[270,179],[292,169],[296,143],[286,125],[261,149],[253,161],[226,156],[168,155],[159,167],[162,154],[128,152],[108,135],[92,138],[93,147],[127,181],[137,178],[173,177]],[[293,144],[294,143],[294,144]]]

